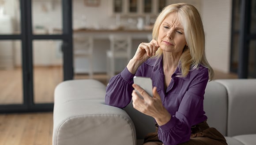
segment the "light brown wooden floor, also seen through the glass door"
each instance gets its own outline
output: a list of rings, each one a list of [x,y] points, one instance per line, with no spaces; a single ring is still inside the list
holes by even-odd
[[[34,89],[36,102],[53,102],[53,90],[62,81],[60,67],[36,68]],[[22,102],[22,75],[20,69],[0,71],[0,103]],[[76,75],[75,79],[87,79]],[[237,78],[236,74],[215,71],[215,79]],[[94,79],[107,83],[104,74]],[[53,112],[0,114],[0,145],[52,145]]]

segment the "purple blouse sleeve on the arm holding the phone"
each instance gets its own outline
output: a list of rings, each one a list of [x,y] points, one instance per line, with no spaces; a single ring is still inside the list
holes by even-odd
[[[192,122],[203,103],[203,94],[208,82],[208,71],[199,72],[192,80],[181,100],[178,111],[168,123],[159,126],[158,137],[164,145],[177,145],[189,141]]]

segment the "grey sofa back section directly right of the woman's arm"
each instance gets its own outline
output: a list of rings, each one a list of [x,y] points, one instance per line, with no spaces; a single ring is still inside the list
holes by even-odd
[[[226,135],[227,95],[225,87],[216,82],[207,83],[204,94],[203,109],[208,117],[207,123]]]

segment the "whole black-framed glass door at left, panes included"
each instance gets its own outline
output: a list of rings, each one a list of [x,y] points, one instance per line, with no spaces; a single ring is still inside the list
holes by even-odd
[[[52,111],[73,78],[71,0],[1,0],[0,24],[0,112]]]

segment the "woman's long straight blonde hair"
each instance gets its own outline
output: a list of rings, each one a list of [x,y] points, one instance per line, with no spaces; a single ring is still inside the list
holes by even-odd
[[[179,69],[181,76],[188,75],[190,70],[196,69],[203,65],[209,71],[209,80],[212,80],[214,71],[209,65],[205,56],[205,36],[203,23],[196,7],[191,4],[171,4],[165,7],[158,15],[153,27],[152,38],[158,40],[158,32],[163,20],[172,12],[176,12],[181,24],[184,27],[184,35],[188,49],[184,48],[179,60]],[[156,57],[162,54],[162,49],[158,49]]]

